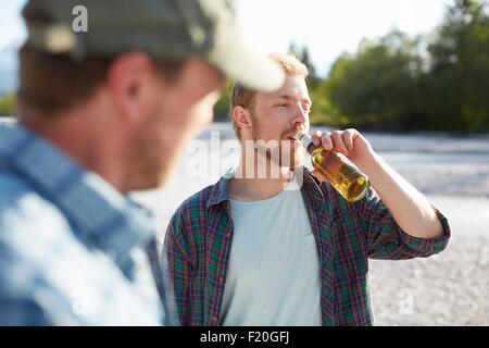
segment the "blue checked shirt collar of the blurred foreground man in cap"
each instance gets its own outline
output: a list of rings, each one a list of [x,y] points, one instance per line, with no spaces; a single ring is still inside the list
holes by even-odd
[[[154,237],[149,212],[22,125],[0,125],[0,165],[24,176],[63,211],[85,243],[129,271],[130,250]]]

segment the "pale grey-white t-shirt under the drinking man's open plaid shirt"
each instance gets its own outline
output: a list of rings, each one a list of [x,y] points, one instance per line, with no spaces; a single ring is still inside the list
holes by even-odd
[[[301,191],[230,207],[223,324],[322,325],[319,261]]]

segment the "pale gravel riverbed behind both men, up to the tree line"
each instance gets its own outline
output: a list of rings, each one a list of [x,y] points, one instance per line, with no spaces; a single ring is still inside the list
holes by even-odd
[[[199,138],[209,142],[213,130],[233,137],[229,125],[214,124]],[[448,217],[453,235],[446,251],[428,259],[371,260],[376,325],[489,325],[489,137],[365,136]],[[184,199],[218,178],[189,177],[189,161],[164,189],[137,194],[163,225]]]

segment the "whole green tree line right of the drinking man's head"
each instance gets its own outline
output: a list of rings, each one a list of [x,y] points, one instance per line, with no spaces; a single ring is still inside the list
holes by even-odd
[[[313,92],[329,100],[335,112],[315,122],[388,130],[489,130],[488,76],[488,2],[456,0],[430,36],[409,38],[394,30],[339,57]]]

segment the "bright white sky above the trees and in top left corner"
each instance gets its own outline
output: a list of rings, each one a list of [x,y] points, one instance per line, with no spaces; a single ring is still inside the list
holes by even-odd
[[[0,0],[0,54],[18,46],[26,32],[25,0]],[[319,75],[342,52],[354,52],[362,38],[393,28],[426,34],[440,23],[451,0],[237,0],[238,20],[250,45],[263,52],[305,45]],[[1,64],[1,60],[0,60]]]

